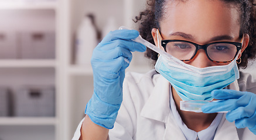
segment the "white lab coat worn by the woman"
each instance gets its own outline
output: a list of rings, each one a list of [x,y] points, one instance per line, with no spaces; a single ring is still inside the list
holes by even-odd
[[[239,86],[238,86],[239,85]],[[170,111],[170,83],[152,70],[146,74],[128,73],[124,81],[124,97],[110,139],[186,139]],[[240,79],[231,83],[230,89],[256,93],[256,81],[249,74],[240,74]],[[214,139],[256,139],[248,128],[237,129],[223,115]],[[73,139],[80,138],[81,123]]]

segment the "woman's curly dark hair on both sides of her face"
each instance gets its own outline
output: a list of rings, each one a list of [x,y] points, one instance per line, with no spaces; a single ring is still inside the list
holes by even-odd
[[[184,0],[182,0],[184,1]],[[237,6],[240,12],[240,36],[249,34],[250,41],[247,48],[241,56],[241,63],[238,64],[239,68],[247,68],[248,60],[256,58],[256,2],[254,0],[220,0],[228,4]],[[163,6],[167,0],[148,0],[147,8],[135,17],[134,22],[139,22],[139,32],[141,36],[155,44],[151,35],[153,28],[159,29],[159,22],[163,17]],[[145,56],[154,60],[158,60],[158,54],[147,48]]]

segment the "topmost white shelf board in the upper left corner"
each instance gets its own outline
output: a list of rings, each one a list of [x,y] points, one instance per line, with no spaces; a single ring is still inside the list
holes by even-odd
[[[56,9],[57,2],[0,2],[0,10]]]

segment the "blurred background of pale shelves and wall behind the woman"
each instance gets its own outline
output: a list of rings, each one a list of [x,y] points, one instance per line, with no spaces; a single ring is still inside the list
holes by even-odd
[[[0,0],[0,140],[71,139],[93,93],[90,57],[146,0]],[[133,53],[127,71],[153,68]],[[255,65],[244,71],[255,75]]]

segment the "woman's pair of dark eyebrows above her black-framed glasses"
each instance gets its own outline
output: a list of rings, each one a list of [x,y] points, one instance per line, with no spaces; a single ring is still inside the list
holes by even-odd
[[[194,40],[194,37],[191,34],[186,34],[182,32],[175,32],[171,33],[170,36],[181,36],[186,39]],[[210,39],[210,42],[212,41],[220,41],[220,40],[233,40],[234,37],[228,36],[228,35],[222,35],[222,36],[216,36]]]

